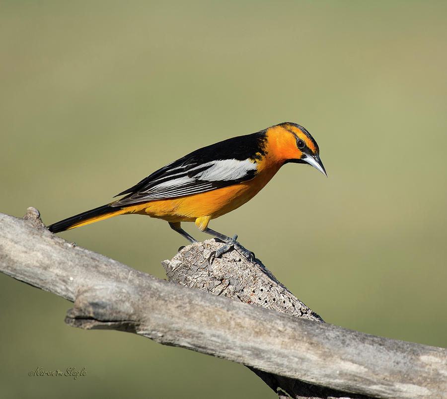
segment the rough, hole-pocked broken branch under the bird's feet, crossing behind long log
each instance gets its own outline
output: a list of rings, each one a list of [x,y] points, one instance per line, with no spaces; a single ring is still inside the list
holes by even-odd
[[[172,260],[162,262],[169,281],[289,316],[323,322],[320,316],[281,284],[259,259],[252,263],[237,251],[231,251],[210,263],[212,251],[220,245],[222,244],[216,245],[213,240],[197,243],[180,251]],[[370,398],[249,368],[281,398],[288,395],[299,399]]]

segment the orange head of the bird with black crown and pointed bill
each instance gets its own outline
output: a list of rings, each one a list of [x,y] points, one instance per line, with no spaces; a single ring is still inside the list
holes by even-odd
[[[266,134],[274,156],[283,164],[308,163],[327,177],[318,144],[301,125],[284,122],[267,129]]]

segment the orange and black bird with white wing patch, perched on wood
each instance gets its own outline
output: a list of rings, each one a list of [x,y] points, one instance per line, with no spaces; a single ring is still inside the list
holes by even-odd
[[[310,133],[296,123],[285,122],[199,148],[115,196],[125,197],[48,228],[58,233],[112,216],[139,213],[166,220],[191,243],[196,240],[180,223],[195,222],[201,231],[224,241],[216,257],[236,246],[251,258],[236,242],[237,235],[227,237],[210,229],[208,223],[252,199],[288,162],[310,164],[327,176]]]

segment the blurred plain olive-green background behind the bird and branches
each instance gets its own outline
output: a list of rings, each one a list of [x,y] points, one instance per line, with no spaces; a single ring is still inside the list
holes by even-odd
[[[297,122],[329,178],[286,165],[211,227],[327,322],[447,346],[447,2],[0,6],[1,212],[51,224],[196,148]],[[186,243],[143,216],[61,236],[161,278]],[[0,297],[2,398],[275,397],[242,365],[67,327],[71,303],[4,275]]]

